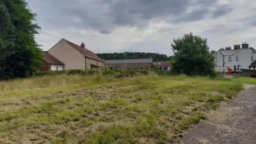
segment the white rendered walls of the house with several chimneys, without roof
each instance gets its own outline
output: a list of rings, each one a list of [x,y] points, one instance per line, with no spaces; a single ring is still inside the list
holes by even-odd
[[[252,53],[253,50],[251,49],[242,49],[240,51],[237,51],[234,53],[234,55],[224,55],[224,62],[225,62],[225,67],[230,67],[231,69],[234,69],[234,66],[236,68],[240,69],[249,69],[249,66],[253,61],[251,61],[251,56],[253,55],[253,60],[256,60],[256,53]],[[219,53],[219,55],[218,55]],[[238,56],[238,61],[236,61],[236,56]],[[218,51],[216,54],[216,57],[218,57],[218,62],[216,62],[217,67],[218,66],[223,66],[223,61],[219,60],[221,57],[223,57],[222,54]],[[229,61],[229,57],[231,57],[231,61]],[[216,58],[215,58],[216,59]]]

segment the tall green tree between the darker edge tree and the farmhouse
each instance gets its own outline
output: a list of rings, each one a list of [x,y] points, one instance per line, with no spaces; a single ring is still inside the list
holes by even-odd
[[[24,0],[0,0],[10,13],[12,25],[15,28],[13,50],[15,54],[6,58],[5,71],[10,77],[26,77],[42,63],[42,52],[35,42],[35,35],[40,27],[33,23],[36,14],[28,8]]]

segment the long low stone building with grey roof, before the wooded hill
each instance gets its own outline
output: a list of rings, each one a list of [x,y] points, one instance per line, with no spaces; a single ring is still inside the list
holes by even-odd
[[[105,60],[105,66],[115,70],[149,70],[153,68],[153,59]]]

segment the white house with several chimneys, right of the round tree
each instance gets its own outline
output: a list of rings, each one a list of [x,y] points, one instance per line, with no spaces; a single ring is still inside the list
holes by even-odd
[[[256,51],[249,48],[249,44],[246,43],[242,44],[242,48],[240,45],[234,45],[233,50],[231,47],[226,47],[215,53],[216,67],[230,67],[234,70],[249,69],[254,60],[256,60]]]

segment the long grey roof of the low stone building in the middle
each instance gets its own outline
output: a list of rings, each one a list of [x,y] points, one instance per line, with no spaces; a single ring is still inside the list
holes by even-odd
[[[122,63],[152,63],[153,59],[123,59],[123,60],[105,60],[106,64],[122,64]]]

